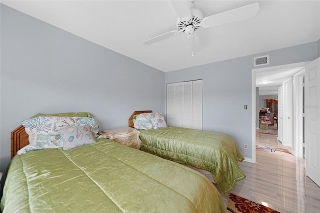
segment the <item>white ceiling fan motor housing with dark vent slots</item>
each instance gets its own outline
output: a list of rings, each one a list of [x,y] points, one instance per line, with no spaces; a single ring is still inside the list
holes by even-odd
[[[185,31],[187,34],[193,34],[199,28],[203,18],[202,12],[197,8],[190,8],[190,12],[191,18],[188,20],[181,20],[179,17],[176,19],[176,27],[179,32]]]

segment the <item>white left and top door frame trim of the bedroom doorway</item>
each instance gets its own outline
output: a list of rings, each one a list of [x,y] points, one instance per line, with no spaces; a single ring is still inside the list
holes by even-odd
[[[278,65],[278,66],[268,66],[263,68],[255,68],[251,69],[251,162],[255,163],[256,157],[255,157],[255,119],[256,119],[256,100],[255,100],[255,72],[258,70],[264,70],[264,71],[271,71],[275,69],[281,69],[281,68],[291,68],[291,67],[297,67],[297,66],[305,66],[309,61],[304,62],[298,62],[298,63],[291,63],[291,64],[284,64],[284,65]]]

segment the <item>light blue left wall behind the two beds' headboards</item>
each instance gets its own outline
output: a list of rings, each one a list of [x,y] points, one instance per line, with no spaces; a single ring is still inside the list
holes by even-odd
[[[100,129],[165,110],[164,72],[1,5],[1,171],[10,132],[35,113],[89,111]]]

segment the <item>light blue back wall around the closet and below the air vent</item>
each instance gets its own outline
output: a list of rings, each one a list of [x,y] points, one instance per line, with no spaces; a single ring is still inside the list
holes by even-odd
[[[165,73],[165,83],[203,79],[203,129],[230,135],[243,155],[251,158],[251,70],[256,68],[253,58],[268,54],[268,66],[309,61],[317,58],[318,45],[314,41],[170,71]],[[244,144],[248,144],[248,149],[243,148]]]

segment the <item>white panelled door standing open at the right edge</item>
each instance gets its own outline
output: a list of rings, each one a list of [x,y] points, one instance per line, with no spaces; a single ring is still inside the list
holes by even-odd
[[[320,186],[320,57],[305,66],[305,173]]]

